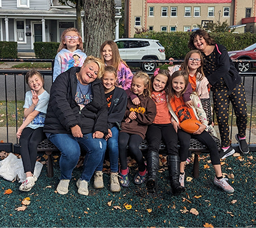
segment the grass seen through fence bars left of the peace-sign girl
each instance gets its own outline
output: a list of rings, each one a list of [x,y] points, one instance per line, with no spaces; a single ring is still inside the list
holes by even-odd
[[[24,101],[17,102],[17,124],[20,126],[23,122]],[[16,126],[16,105],[15,101],[8,101],[8,126]],[[6,104],[5,101],[0,101],[0,127],[6,126]]]

